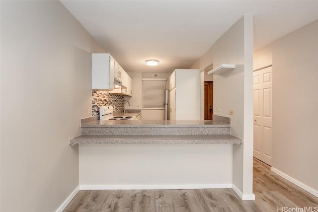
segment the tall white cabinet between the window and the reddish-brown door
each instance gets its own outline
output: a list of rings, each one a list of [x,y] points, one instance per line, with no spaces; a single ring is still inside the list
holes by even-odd
[[[169,81],[169,119],[200,120],[200,70],[176,69]]]

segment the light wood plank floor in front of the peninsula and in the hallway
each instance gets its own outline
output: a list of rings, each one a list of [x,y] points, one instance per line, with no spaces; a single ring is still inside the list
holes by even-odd
[[[255,201],[240,200],[232,189],[94,190],[79,191],[64,212],[277,212],[277,207],[318,209],[317,197],[269,168],[253,159]]]

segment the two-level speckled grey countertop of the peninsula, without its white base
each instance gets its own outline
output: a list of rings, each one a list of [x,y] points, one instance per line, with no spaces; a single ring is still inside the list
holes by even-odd
[[[139,114],[136,113],[136,116]],[[76,144],[241,144],[230,135],[230,119],[215,120],[81,120],[81,136],[70,140]],[[222,122],[223,121],[223,122]]]

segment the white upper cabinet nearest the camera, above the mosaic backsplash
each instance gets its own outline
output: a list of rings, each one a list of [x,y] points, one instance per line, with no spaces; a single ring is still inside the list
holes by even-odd
[[[91,80],[93,90],[112,90],[114,87],[115,60],[110,54],[91,55]]]

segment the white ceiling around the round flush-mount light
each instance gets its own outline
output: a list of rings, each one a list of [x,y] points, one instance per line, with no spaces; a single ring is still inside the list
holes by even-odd
[[[318,19],[318,0],[61,0],[125,71],[187,69],[243,14],[254,51]],[[148,67],[148,59],[159,66]]]

